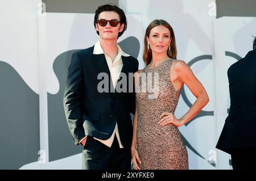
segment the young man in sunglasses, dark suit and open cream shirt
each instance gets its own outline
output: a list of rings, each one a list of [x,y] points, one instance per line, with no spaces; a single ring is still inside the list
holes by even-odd
[[[130,169],[130,112],[134,113],[135,105],[131,81],[138,60],[117,45],[126,26],[119,7],[98,7],[94,27],[100,40],[72,55],[64,110],[73,141],[84,146],[82,169]]]

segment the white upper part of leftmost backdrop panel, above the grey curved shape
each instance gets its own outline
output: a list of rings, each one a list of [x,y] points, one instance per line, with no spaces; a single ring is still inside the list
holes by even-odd
[[[10,64],[39,94],[38,5],[40,0],[1,1],[0,61]]]

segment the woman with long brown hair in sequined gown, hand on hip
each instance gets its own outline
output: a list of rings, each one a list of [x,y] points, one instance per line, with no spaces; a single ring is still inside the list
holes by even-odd
[[[154,20],[144,36],[146,67],[134,74],[136,111],[131,155],[134,169],[188,169],[188,153],[179,129],[209,102],[207,92],[189,66],[176,60],[174,31]],[[180,119],[174,115],[181,87],[196,96]]]

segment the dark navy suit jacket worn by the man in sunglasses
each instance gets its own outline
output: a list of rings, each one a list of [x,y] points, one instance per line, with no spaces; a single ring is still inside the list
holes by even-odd
[[[113,89],[105,56],[93,54],[93,49],[94,46],[73,53],[68,68],[64,110],[73,141],[78,145],[85,136],[107,140],[117,122],[122,145],[130,147],[133,132],[130,112],[135,111],[135,92],[117,92]],[[122,56],[122,61],[121,73],[127,77],[138,70],[136,58]],[[99,73],[108,74],[109,92],[97,90],[98,83],[102,82],[102,79],[97,79]],[[129,81],[126,86],[129,89]],[[110,92],[110,88],[114,92]],[[134,90],[133,84],[130,89]]]

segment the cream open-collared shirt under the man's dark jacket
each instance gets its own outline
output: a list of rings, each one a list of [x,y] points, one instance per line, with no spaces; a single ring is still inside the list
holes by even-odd
[[[122,49],[118,45],[117,45],[117,49],[118,49],[118,54],[117,54],[117,57],[115,57],[114,61],[111,60],[111,58],[108,56],[108,54],[105,54],[103,52],[103,50],[101,48],[100,41],[97,41],[97,43],[94,45],[94,49],[93,49],[93,54],[105,54],[106,62],[107,62],[108,67],[109,67],[109,71],[110,71],[110,75],[111,75],[111,78],[112,78],[114,88],[115,88],[115,85],[117,85],[119,75],[120,75],[121,70],[123,68],[122,56],[125,56],[125,57],[130,56],[129,54],[126,54],[125,52],[123,52]],[[120,140],[119,132],[118,132],[117,123],[115,124],[115,129],[112,133],[112,136],[110,136],[110,138],[108,140],[100,140],[100,139],[95,138],[95,137],[93,137],[93,138],[95,140],[98,140],[98,141],[102,142],[102,144],[104,144],[104,145],[106,145],[110,148],[111,145],[113,144],[115,134],[117,135],[119,148],[123,148],[123,145],[122,145],[121,140]],[[84,140],[84,138],[82,140]]]

